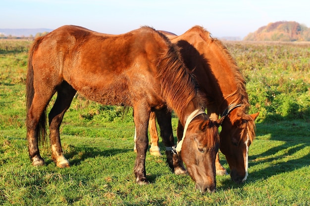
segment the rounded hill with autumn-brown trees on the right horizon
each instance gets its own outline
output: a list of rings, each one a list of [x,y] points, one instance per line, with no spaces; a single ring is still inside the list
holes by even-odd
[[[310,41],[310,28],[295,21],[278,21],[250,33],[245,41]]]

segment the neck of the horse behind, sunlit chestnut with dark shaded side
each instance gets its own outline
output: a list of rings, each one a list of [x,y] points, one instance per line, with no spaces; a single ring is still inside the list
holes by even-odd
[[[246,94],[242,83],[244,79],[221,42],[210,37],[202,39],[193,36],[189,41],[204,57],[203,68],[195,69],[194,74],[207,97],[217,105],[217,112],[222,113],[230,104],[242,104],[242,98],[247,98],[247,95],[240,95],[240,92]]]

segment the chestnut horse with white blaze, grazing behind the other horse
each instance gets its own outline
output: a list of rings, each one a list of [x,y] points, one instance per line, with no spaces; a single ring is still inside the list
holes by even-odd
[[[250,104],[245,80],[235,60],[221,41],[211,38],[210,33],[200,26],[195,26],[180,36],[161,32],[181,48],[186,66],[195,75],[207,96],[207,113],[210,118],[217,120],[219,115],[227,116],[220,132],[220,150],[229,164],[232,180],[236,183],[245,181],[248,176],[248,150],[255,137],[254,121],[259,113],[247,114]],[[152,115],[149,124],[155,125],[155,116]],[[157,122],[159,124],[159,120]],[[169,123],[160,124],[169,125]],[[156,129],[156,126],[152,128]],[[151,154],[159,153],[158,135],[155,129],[149,129]],[[182,133],[183,127],[179,124],[177,131],[179,140]],[[227,173],[219,162],[218,154],[215,166],[217,174]]]

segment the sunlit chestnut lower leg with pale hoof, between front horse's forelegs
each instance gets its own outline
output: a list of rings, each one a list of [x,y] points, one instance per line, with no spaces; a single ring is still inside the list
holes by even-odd
[[[151,136],[151,148],[150,154],[153,156],[161,156],[160,149],[158,147],[158,133],[156,128],[156,117],[155,112],[151,112],[149,120],[149,132]]]

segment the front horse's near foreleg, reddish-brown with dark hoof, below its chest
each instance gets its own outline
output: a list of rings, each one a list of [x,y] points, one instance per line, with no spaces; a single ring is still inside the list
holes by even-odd
[[[136,182],[140,185],[148,184],[145,170],[146,153],[149,146],[148,123],[151,111],[141,109],[142,105],[134,106],[134,122],[136,126],[136,149],[137,157],[135,161],[134,172],[137,177]]]

